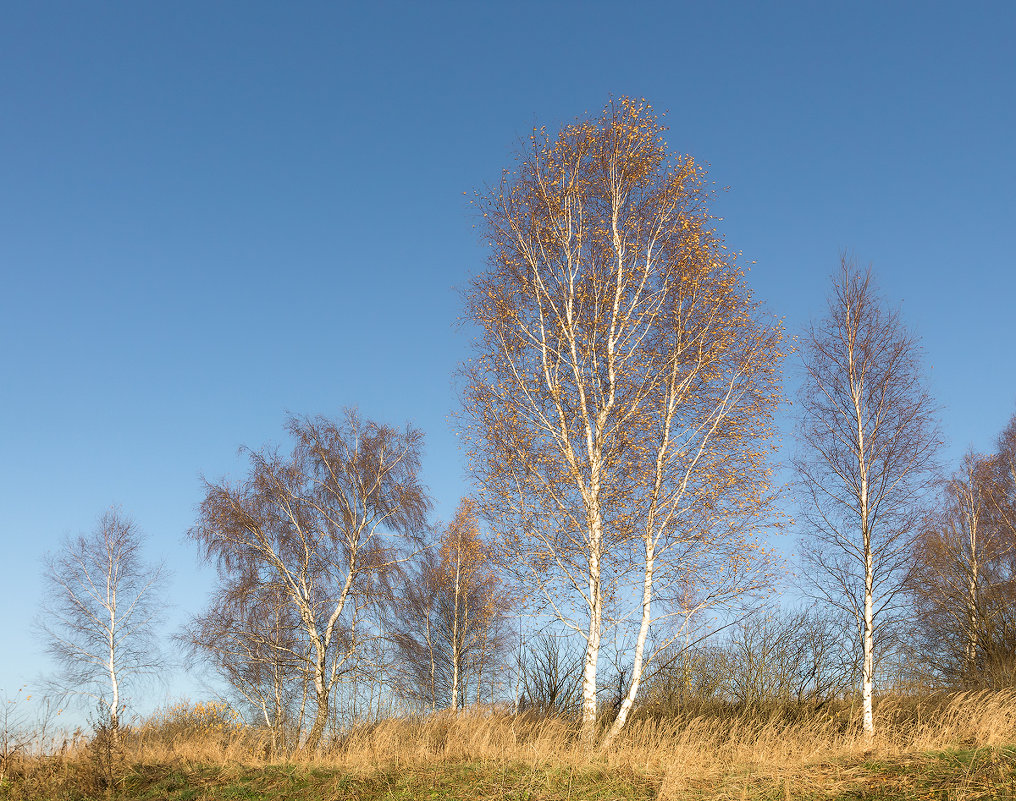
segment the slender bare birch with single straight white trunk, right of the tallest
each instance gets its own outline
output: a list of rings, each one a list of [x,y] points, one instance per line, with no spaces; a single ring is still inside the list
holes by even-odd
[[[858,626],[866,737],[877,638],[898,610],[939,434],[920,346],[845,256],[828,311],[802,336],[799,451],[804,573]]]

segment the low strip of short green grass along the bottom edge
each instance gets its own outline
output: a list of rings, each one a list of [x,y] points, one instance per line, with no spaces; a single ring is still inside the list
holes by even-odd
[[[116,792],[54,784],[0,799],[53,801],[1016,801],[1016,747],[952,748],[899,758],[816,762],[779,775],[767,765],[731,765],[721,777],[687,777],[668,787],[651,772],[522,762],[433,762],[348,772],[321,765],[133,765]],[[663,789],[660,793],[661,786]]]

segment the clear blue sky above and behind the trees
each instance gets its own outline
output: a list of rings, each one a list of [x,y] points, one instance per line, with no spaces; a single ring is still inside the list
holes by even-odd
[[[43,553],[112,503],[174,570],[173,624],[196,610],[199,475],[287,411],[423,428],[449,516],[463,193],[612,93],[729,187],[791,331],[841,249],[874,262],[950,454],[990,447],[1016,410],[1014,38],[1011,3],[5,4],[0,689],[45,668]]]

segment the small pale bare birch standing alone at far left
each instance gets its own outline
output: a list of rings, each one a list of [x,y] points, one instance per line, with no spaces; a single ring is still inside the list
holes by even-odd
[[[114,732],[127,693],[162,667],[156,632],[165,571],[142,556],[133,520],[113,508],[90,535],[46,556],[46,596],[38,625],[58,671],[61,694],[83,695],[108,711]]]

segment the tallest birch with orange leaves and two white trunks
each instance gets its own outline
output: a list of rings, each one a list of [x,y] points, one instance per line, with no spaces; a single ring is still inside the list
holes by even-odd
[[[502,562],[584,642],[592,744],[605,628],[631,678],[682,620],[757,588],[782,330],[763,321],[644,102],[533,132],[481,193],[490,265],[466,293],[465,437]],[[650,630],[663,635],[650,639]]]

